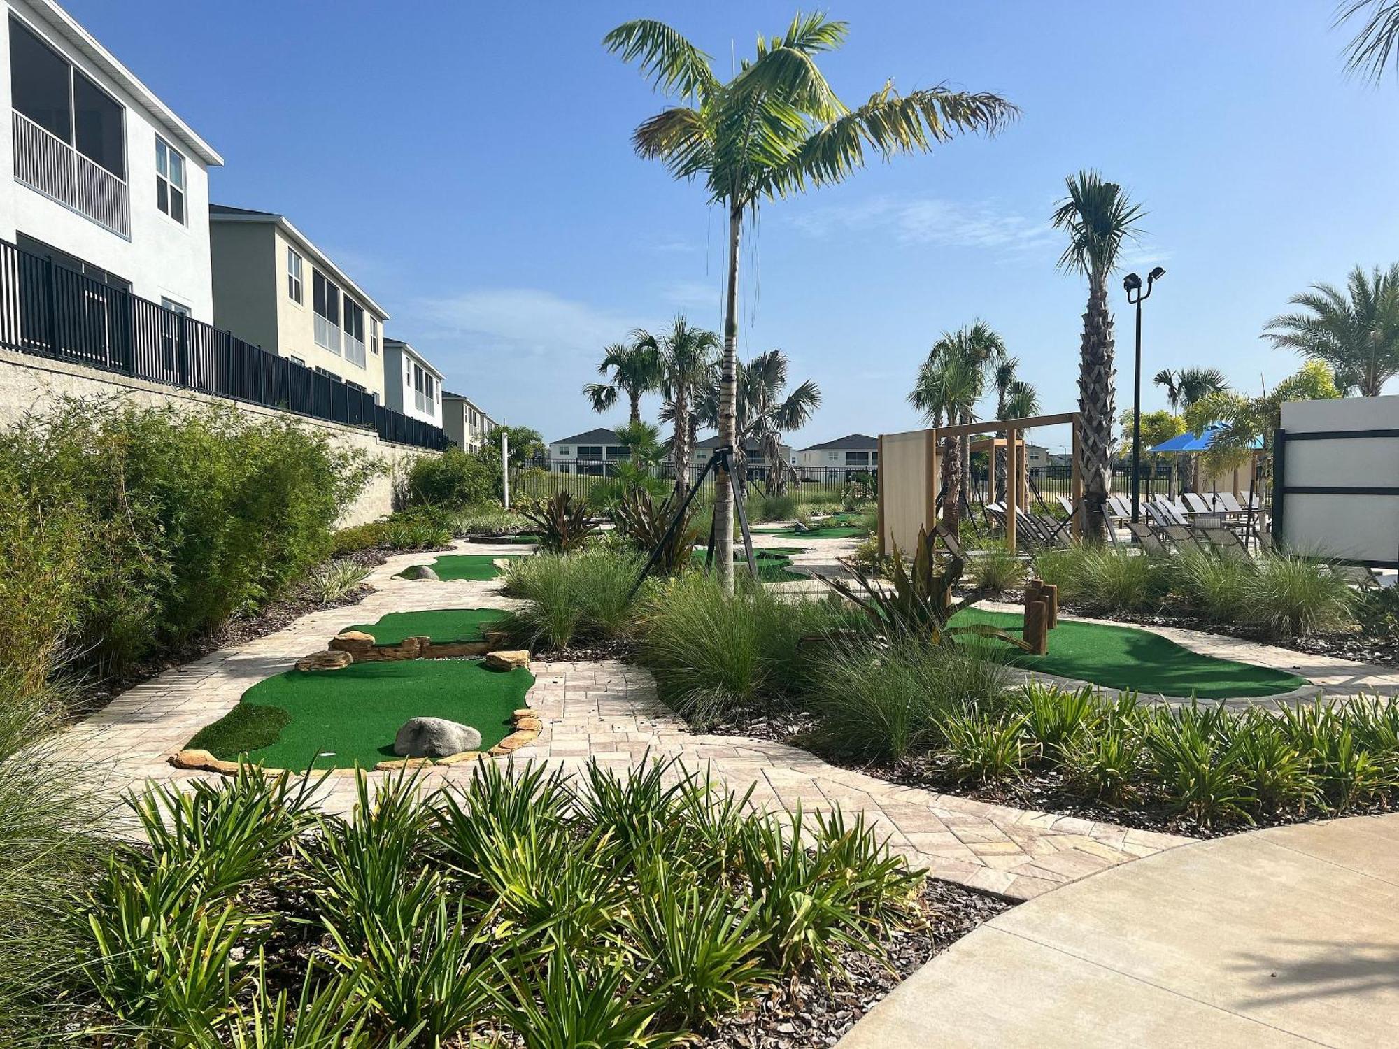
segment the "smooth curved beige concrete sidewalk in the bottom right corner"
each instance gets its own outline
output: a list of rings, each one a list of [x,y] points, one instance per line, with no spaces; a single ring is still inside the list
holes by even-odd
[[[1046,892],[839,1045],[1399,1045],[1399,814],[1195,842]]]

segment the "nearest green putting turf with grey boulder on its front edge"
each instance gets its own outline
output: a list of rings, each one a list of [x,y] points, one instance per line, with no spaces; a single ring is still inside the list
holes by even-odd
[[[414,659],[354,663],[344,670],[288,670],[259,681],[239,705],[189,741],[215,758],[245,754],[269,768],[374,768],[393,759],[393,737],[410,718],[448,718],[481,733],[481,750],[511,733],[511,715],[534,683],[525,669]],[[329,754],[327,757],[318,757]]]

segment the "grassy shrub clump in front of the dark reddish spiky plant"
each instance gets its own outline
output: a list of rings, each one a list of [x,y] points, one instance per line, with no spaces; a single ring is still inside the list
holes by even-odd
[[[965,704],[993,702],[1009,680],[989,646],[837,643],[814,662],[813,743],[862,761],[901,761],[937,744],[944,718]]]

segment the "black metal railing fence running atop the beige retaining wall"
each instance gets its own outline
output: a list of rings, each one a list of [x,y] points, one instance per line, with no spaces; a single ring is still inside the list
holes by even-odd
[[[0,347],[372,428],[381,441],[448,445],[441,427],[386,408],[368,390],[7,241],[0,241]]]

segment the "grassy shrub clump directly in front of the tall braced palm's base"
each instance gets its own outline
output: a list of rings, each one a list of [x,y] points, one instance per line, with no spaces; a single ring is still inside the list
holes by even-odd
[[[642,662],[660,698],[704,730],[797,687],[806,660],[797,642],[846,614],[824,601],[783,601],[751,580],[725,593],[691,572],[663,580],[642,610]]]

